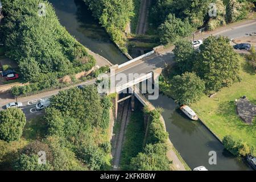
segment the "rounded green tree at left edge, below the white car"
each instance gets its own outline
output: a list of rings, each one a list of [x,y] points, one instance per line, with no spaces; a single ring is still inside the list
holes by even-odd
[[[10,108],[0,111],[0,139],[6,142],[19,140],[23,128],[26,125],[26,117],[22,110]]]

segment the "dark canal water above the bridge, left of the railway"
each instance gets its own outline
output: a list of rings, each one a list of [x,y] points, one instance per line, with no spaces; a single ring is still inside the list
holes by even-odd
[[[127,57],[110,40],[109,35],[82,0],[49,0],[55,8],[60,23],[91,51],[105,57],[113,64],[128,61]]]

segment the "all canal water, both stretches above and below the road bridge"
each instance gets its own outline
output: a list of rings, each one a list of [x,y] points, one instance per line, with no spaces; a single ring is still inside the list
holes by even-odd
[[[109,35],[101,28],[84,2],[80,0],[50,0],[55,7],[61,24],[75,38],[95,53],[113,64],[121,64],[128,59],[115,47]],[[249,170],[241,158],[232,156],[224,146],[200,122],[189,120],[175,104],[174,100],[160,95],[151,100],[155,106],[164,109],[163,118],[172,143],[189,167],[205,166],[209,170]],[[217,152],[217,164],[209,164],[209,152]]]

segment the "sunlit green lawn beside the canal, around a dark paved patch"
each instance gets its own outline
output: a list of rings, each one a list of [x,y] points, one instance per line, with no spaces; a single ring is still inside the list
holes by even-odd
[[[256,154],[256,119],[254,125],[246,125],[236,113],[235,100],[246,96],[256,104],[256,75],[255,71],[243,61],[242,81],[223,88],[214,98],[204,96],[192,109],[196,111],[204,123],[220,139],[225,135],[232,135],[235,139],[242,139],[254,146]]]

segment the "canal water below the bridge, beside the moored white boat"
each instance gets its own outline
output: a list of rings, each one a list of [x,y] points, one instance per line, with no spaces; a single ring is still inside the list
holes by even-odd
[[[179,109],[172,98],[160,94],[158,100],[150,100],[155,107],[162,107],[163,118],[171,142],[192,169],[205,166],[212,170],[250,170],[241,158],[236,158],[224,149],[217,138],[199,121],[191,121]],[[209,152],[216,151],[217,164],[209,164]]]

